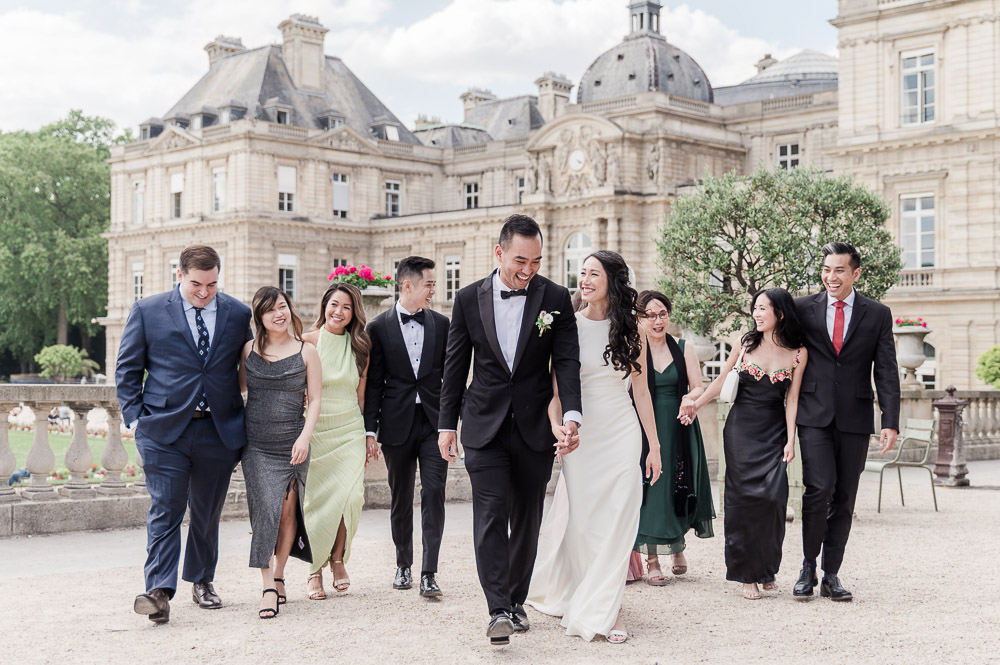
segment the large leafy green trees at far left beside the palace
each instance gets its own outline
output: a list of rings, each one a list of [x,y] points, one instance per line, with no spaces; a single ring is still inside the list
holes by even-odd
[[[0,134],[0,349],[22,363],[70,328],[84,346],[107,307],[115,136],[110,120],[71,111],[36,132]]]

